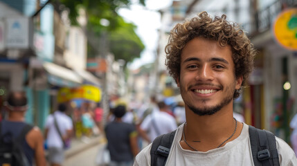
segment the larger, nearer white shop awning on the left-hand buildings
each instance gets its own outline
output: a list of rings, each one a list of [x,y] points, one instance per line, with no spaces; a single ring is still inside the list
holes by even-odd
[[[82,84],[82,77],[68,68],[64,68],[51,62],[44,62],[43,66],[49,74],[48,82],[51,84],[69,87]]]

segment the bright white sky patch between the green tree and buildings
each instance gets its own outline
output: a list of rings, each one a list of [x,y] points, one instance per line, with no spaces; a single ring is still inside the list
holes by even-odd
[[[146,0],[145,3],[145,7],[134,2],[129,9],[119,10],[119,14],[127,22],[132,22],[137,26],[136,34],[145,45],[141,58],[135,59],[128,65],[131,69],[154,62],[159,37],[158,29],[161,27],[161,17],[157,10],[171,6],[172,0]]]

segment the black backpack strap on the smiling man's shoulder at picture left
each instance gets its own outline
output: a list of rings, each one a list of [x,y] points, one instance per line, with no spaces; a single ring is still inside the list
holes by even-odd
[[[175,133],[176,130],[172,131],[171,133],[165,133],[154,139],[154,141],[152,142],[152,147],[150,149],[152,166],[165,165]]]

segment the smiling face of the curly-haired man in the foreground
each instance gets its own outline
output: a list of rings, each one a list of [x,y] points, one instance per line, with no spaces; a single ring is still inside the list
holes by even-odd
[[[242,77],[235,78],[230,46],[196,37],[183,48],[177,85],[186,107],[194,113],[212,115],[232,106],[234,91],[241,84]]]

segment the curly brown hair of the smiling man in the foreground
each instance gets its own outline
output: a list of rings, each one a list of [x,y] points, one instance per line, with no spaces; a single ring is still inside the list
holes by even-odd
[[[229,45],[235,64],[235,77],[243,77],[242,86],[253,71],[253,57],[256,50],[244,31],[236,23],[226,21],[226,15],[212,19],[207,12],[200,12],[197,17],[177,24],[170,32],[168,44],[165,47],[165,65],[169,74],[177,81],[181,74],[181,50],[195,37],[214,39],[221,46]],[[240,96],[242,86],[235,91],[233,98]]]

